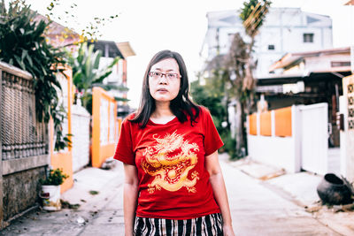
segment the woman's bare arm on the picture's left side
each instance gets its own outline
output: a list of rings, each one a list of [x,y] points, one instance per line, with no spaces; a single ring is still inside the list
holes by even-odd
[[[138,172],[135,165],[124,164],[124,225],[126,236],[133,236],[135,209],[138,200]]]

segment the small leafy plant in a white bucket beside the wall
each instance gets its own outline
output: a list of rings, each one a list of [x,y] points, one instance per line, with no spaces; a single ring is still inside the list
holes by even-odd
[[[42,191],[40,197],[42,198],[43,209],[46,210],[60,210],[60,185],[69,176],[63,173],[62,169],[50,170],[46,179],[40,179],[42,184]]]

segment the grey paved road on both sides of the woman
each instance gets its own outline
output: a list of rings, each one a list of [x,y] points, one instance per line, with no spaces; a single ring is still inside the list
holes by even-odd
[[[341,235],[321,225],[302,207],[221,161],[236,235]],[[34,212],[16,220],[0,235],[124,235],[122,167],[101,194],[79,210]],[[98,177],[97,177],[98,178]],[[86,224],[78,225],[78,217]]]

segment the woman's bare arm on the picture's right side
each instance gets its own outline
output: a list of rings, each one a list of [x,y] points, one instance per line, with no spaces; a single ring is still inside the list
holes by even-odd
[[[235,233],[232,228],[230,207],[227,200],[227,188],[225,187],[224,178],[219,164],[218,151],[213,152],[209,156],[205,156],[205,167],[210,174],[209,180],[212,184],[212,191],[221,211],[224,235],[234,236]]]

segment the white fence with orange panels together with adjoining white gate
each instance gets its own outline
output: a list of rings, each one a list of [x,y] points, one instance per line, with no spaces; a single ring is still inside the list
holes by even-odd
[[[317,103],[250,115],[247,136],[250,156],[289,172],[304,169],[326,173],[330,168],[327,109],[327,103]]]

